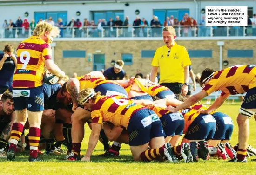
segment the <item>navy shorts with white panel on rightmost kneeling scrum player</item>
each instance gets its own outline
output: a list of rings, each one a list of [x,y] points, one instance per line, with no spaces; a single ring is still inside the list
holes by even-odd
[[[222,112],[215,112],[212,116],[216,120],[216,131],[213,136],[214,140],[230,140],[234,124],[231,117]]]

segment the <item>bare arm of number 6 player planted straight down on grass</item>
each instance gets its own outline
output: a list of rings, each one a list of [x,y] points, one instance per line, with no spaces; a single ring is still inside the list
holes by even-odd
[[[101,132],[101,124],[93,123],[92,132],[89,137],[89,143],[88,143],[88,148],[87,148],[85,157],[90,158],[92,156],[93,151],[98,143],[100,132]]]

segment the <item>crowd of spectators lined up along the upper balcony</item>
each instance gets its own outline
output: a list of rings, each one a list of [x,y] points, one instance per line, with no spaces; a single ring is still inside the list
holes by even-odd
[[[108,21],[106,19],[89,21],[85,18],[81,22],[80,19],[72,18],[66,24],[63,24],[61,18],[54,21],[52,17],[49,17],[48,19],[40,19],[39,21],[42,20],[51,23],[53,26],[58,26],[60,28],[60,37],[101,37],[102,34],[104,37],[116,37],[117,35],[118,37],[132,37],[131,27],[134,27],[134,37],[147,37],[148,35],[151,37],[160,37],[163,26],[173,26],[176,33],[179,33],[183,37],[209,36],[209,32],[207,32],[208,27],[205,26],[205,17],[202,16],[202,19],[196,21],[188,13],[185,13],[183,19],[180,21],[173,15],[167,17],[165,21],[160,21],[157,16],[153,15],[150,23],[147,19],[141,19],[139,16],[136,16],[132,24],[129,22],[128,16],[125,17],[124,21],[119,16],[116,16],[115,19],[109,18]],[[15,23],[11,19],[9,21],[5,20],[2,25],[4,36],[5,38],[27,37],[29,31],[33,31],[39,21],[35,21],[34,19],[31,21],[27,19],[22,20],[20,17]],[[17,30],[13,30],[15,28]],[[117,28],[119,29],[118,32],[116,31]],[[248,27],[245,33],[249,36],[255,35],[255,14],[251,19],[248,16]],[[214,27],[213,35],[225,36],[227,35],[227,28]],[[230,27],[229,35],[243,36],[243,28]]]

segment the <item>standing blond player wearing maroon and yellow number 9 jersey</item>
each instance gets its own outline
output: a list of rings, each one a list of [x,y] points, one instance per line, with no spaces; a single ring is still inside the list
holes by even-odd
[[[59,35],[57,27],[47,22],[40,22],[33,31],[33,36],[25,39],[17,48],[17,70],[13,76],[13,101],[15,104],[15,121],[12,126],[10,147],[7,160],[15,160],[14,150],[24,124],[29,121],[30,162],[40,161],[37,156],[40,140],[41,117],[44,110],[42,74],[44,66],[60,80],[65,73],[54,64],[50,43]]]

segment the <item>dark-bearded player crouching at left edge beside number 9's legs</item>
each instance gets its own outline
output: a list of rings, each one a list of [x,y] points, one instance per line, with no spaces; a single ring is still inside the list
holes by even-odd
[[[6,146],[11,136],[11,127],[15,120],[13,94],[5,92],[0,100],[0,157],[6,158]]]

